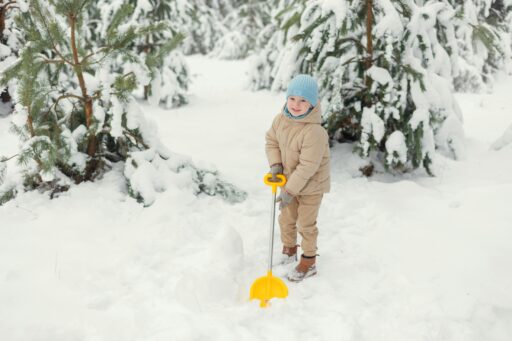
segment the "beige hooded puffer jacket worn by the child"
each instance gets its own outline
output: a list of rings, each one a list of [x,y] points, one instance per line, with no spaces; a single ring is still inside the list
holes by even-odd
[[[297,120],[281,112],[265,136],[269,165],[283,165],[285,190],[294,196],[330,190],[329,138],[321,122],[320,104]]]

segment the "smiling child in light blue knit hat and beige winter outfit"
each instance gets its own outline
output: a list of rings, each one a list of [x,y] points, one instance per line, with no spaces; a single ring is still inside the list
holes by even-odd
[[[273,180],[284,174],[287,183],[277,198],[283,255],[281,264],[297,260],[297,232],[302,237],[302,257],[287,275],[299,282],[317,273],[316,218],[324,193],[330,189],[329,141],[321,126],[318,86],[308,75],[294,77],[287,101],[265,136],[265,151]]]

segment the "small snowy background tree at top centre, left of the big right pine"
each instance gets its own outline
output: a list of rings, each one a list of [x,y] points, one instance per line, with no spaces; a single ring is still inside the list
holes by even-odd
[[[270,23],[272,1],[234,0],[233,10],[223,19],[228,28],[211,55],[222,59],[242,59],[254,52],[258,34]]]

